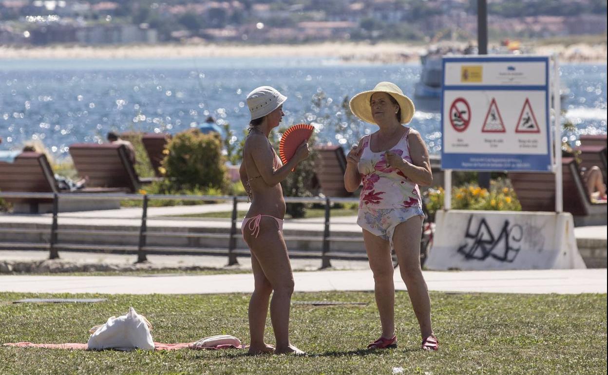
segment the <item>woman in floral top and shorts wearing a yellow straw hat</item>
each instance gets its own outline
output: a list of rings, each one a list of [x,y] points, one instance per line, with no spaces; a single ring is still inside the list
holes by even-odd
[[[429,291],[420,268],[424,213],[418,190],[419,184],[430,186],[433,178],[420,133],[401,125],[412,120],[414,105],[395,84],[381,82],[373,90],[355,95],[350,109],[359,119],[380,128],[362,137],[348,153],[344,174],[348,191],[357,190],[363,181],[357,224],[363,229],[382,325],[380,338],[368,349],[397,347],[392,248],[420,325],[422,348],[437,350]]]

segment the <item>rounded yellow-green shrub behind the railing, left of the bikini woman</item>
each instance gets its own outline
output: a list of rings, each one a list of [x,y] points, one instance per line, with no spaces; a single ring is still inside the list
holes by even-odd
[[[199,129],[188,129],[176,134],[167,145],[165,169],[167,193],[176,191],[223,191],[227,187],[226,161],[222,155],[219,134],[202,134]]]

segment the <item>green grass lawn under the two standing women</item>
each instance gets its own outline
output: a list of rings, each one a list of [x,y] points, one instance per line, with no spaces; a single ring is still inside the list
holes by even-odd
[[[28,297],[107,297],[94,304],[12,304]],[[90,374],[606,374],[606,294],[523,295],[433,292],[440,351],[420,350],[407,292],[396,294],[399,348],[366,351],[379,335],[371,292],[296,293],[294,301],[367,302],[367,306],[294,304],[292,342],[309,354],[247,356],[243,350],[85,352],[0,347],[0,373]],[[248,295],[0,294],[0,342],[86,342],[88,329],[129,306],[148,317],[157,342],[214,334],[248,341]],[[268,323],[268,327],[270,324]],[[267,329],[273,343],[272,330]]]

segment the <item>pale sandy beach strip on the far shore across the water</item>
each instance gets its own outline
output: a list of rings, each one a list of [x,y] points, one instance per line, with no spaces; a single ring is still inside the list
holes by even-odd
[[[464,43],[452,43],[463,47]],[[212,57],[306,57],[338,58],[345,62],[417,62],[427,50],[424,44],[406,43],[319,43],[263,46],[237,44],[157,44],[139,46],[0,46],[0,59],[97,59],[97,58],[212,58]],[[493,46],[489,46],[491,49]],[[527,46],[527,52],[557,53],[570,63],[606,63],[606,43]]]

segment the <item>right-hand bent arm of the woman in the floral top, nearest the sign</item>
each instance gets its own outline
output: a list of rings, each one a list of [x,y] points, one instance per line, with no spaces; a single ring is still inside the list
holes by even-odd
[[[415,184],[421,186],[432,185],[433,173],[430,170],[429,151],[426,150],[426,145],[420,133],[412,129],[408,142],[410,157],[412,157],[411,163],[393,152],[387,153],[387,162],[391,167],[402,171]]]

